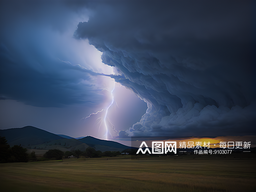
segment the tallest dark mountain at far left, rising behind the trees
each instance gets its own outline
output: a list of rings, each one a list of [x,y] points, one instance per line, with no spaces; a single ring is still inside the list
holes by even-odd
[[[10,146],[39,145],[51,140],[64,139],[59,135],[32,126],[0,130],[0,136],[5,137]]]

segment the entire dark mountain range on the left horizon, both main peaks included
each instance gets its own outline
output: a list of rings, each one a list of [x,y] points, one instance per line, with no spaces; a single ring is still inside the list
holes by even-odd
[[[79,149],[85,151],[86,148],[92,147],[104,152],[123,151],[131,148],[115,141],[96,139],[91,136],[76,139],[67,135],[56,135],[32,126],[0,130],[0,136],[5,137],[10,146],[21,145],[28,149],[60,149],[62,151]]]

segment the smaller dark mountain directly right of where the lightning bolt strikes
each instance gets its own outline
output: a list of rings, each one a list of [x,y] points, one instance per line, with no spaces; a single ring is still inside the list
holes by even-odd
[[[87,145],[89,145],[91,147],[95,147],[94,145],[104,145],[104,146],[108,146],[111,148],[119,148],[119,149],[131,148],[131,147],[128,147],[126,145],[123,145],[123,144],[115,142],[115,141],[96,139],[92,136],[87,136],[87,137],[84,137],[84,138],[78,139],[78,140],[83,143],[86,143]]]

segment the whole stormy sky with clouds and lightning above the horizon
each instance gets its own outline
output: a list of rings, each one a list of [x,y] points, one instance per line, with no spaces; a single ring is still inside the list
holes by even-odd
[[[253,1],[0,7],[0,129],[255,135]]]

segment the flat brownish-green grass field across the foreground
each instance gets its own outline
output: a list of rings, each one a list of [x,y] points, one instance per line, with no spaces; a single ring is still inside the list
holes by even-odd
[[[129,157],[0,164],[1,191],[256,191],[255,154]]]

